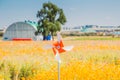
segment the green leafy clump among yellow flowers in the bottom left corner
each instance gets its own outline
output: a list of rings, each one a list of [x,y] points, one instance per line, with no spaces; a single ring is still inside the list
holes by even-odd
[[[36,74],[36,68],[32,64],[12,63],[9,61],[0,62],[0,75],[4,80],[21,80],[21,78],[30,78]]]

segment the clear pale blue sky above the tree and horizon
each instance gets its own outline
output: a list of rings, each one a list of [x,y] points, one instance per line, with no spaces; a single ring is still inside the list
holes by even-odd
[[[37,11],[48,1],[63,9],[63,26],[120,25],[120,0],[0,0],[0,28],[18,21],[37,22]]]

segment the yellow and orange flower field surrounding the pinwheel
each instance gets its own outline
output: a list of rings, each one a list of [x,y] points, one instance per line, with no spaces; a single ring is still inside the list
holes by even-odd
[[[0,80],[58,80],[51,41],[0,41]],[[120,80],[119,40],[64,40],[60,80]]]

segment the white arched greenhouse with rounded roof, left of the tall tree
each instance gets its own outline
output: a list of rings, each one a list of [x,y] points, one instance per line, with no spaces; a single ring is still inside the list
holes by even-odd
[[[3,35],[3,40],[31,39],[37,40],[35,32],[37,24],[35,22],[16,22],[11,24]]]

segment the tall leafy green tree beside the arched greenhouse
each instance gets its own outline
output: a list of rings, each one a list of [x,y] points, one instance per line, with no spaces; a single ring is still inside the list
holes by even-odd
[[[44,40],[49,33],[53,38],[53,35],[61,30],[61,25],[66,22],[63,10],[51,2],[43,3],[42,9],[37,12],[37,18],[39,18],[38,32],[42,32]]]

